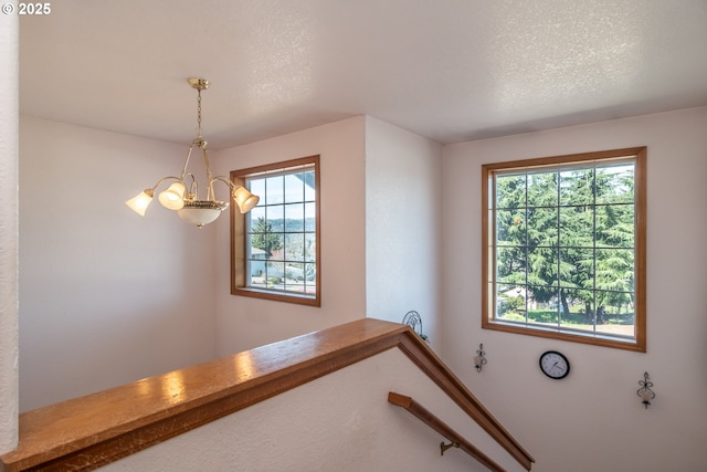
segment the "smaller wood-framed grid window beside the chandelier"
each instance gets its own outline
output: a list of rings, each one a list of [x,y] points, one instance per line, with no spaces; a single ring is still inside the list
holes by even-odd
[[[261,199],[231,206],[231,293],[320,306],[319,156],[231,171]]]

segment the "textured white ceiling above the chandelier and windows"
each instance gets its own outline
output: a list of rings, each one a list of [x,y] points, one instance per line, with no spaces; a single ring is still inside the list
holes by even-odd
[[[368,114],[456,143],[707,105],[707,0],[63,0],[21,113],[223,148]]]

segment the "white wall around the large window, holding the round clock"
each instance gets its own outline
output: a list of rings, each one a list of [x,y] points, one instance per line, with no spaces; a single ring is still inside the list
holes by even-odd
[[[647,146],[647,353],[481,329],[481,165]],[[447,146],[444,357],[537,471],[703,471],[707,444],[707,107]],[[482,374],[471,359],[484,343]],[[568,355],[561,381],[538,369]],[[656,398],[636,390],[648,371]]]

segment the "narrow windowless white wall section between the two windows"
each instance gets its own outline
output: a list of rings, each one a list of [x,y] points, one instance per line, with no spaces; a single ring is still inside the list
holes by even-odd
[[[369,317],[420,313],[437,343],[442,146],[366,118],[366,297]]]

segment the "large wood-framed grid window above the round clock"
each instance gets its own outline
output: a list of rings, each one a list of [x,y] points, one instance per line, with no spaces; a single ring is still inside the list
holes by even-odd
[[[646,149],[482,166],[482,327],[645,352]]]

